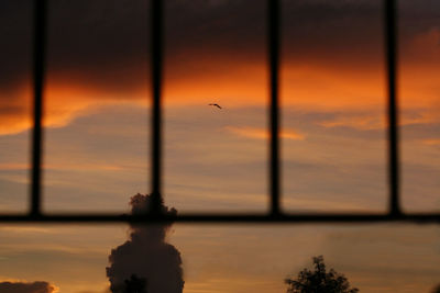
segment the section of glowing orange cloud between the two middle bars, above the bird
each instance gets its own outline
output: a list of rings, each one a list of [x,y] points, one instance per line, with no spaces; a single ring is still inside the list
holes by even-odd
[[[187,68],[185,74],[182,67]],[[212,100],[229,106],[265,105],[268,101],[267,72],[261,61],[191,60],[190,64],[170,66],[166,72],[165,106]]]

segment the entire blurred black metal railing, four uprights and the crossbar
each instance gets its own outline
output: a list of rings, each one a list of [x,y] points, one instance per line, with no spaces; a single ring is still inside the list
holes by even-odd
[[[162,74],[163,74],[163,22],[164,8],[162,0],[151,0],[152,13],[152,153],[151,182],[153,204],[145,215],[118,214],[44,214],[42,213],[42,150],[44,132],[42,125],[44,105],[45,54],[46,54],[46,11],[47,0],[34,1],[34,125],[32,137],[32,182],[31,206],[28,214],[0,214],[0,222],[191,222],[191,223],[374,223],[374,222],[416,222],[440,223],[439,213],[403,213],[399,206],[399,139],[398,139],[398,108],[397,108],[397,20],[396,0],[383,0],[385,27],[385,55],[388,100],[388,212],[378,213],[312,213],[286,214],[280,211],[280,165],[279,165],[279,103],[278,103],[278,71],[279,71],[279,14],[280,1],[267,0],[268,23],[268,70],[270,70],[270,196],[271,211],[266,214],[182,214],[163,215],[160,211],[162,191]],[[146,25],[146,24],[145,24]]]

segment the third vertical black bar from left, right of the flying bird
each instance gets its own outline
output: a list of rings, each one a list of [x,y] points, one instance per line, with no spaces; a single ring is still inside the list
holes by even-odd
[[[268,59],[271,79],[271,212],[279,213],[279,0],[267,0],[268,4]]]

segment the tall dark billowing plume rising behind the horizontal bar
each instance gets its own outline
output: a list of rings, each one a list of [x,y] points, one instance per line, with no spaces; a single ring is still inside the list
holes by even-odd
[[[131,198],[132,214],[143,214],[151,203],[150,195]],[[164,214],[175,215],[175,209],[161,203]],[[113,293],[125,292],[128,280],[144,280],[147,293],[182,293],[184,289],[180,252],[166,243],[172,223],[131,225],[129,240],[111,250],[107,277]]]

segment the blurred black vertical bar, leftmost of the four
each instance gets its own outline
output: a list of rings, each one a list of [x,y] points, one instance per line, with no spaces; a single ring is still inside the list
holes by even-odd
[[[34,1],[34,116],[32,137],[32,183],[31,183],[31,214],[41,214],[42,193],[42,150],[43,150],[43,91],[45,74],[45,46],[46,46],[46,0]]]

